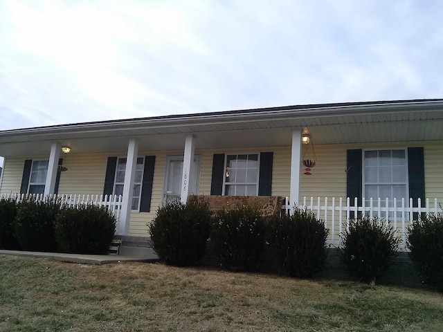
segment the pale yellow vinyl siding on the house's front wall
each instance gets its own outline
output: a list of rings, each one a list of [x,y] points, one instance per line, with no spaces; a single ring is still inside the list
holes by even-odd
[[[346,198],[346,156],[347,149],[381,149],[381,148],[424,147],[425,190],[426,198],[437,198],[443,202],[443,144],[441,142],[397,142],[374,143],[367,145],[316,145],[316,166],[312,168],[312,175],[305,175],[305,167],[300,165],[300,201],[303,196],[314,197],[314,204],[320,196],[320,203],[325,203],[325,197],[332,203],[332,197]],[[196,151],[201,155],[201,169],[199,178],[199,194],[209,195],[213,155],[242,152],[273,152],[273,179],[272,194],[275,196],[289,196],[291,178],[291,147],[262,147],[258,149],[208,149]],[[154,181],[152,186],[152,201],[150,212],[133,212],[129,224],[129,234],[133,236],[148,236],[147,223],[150,223],[156,210],[162,203],[163,183],[165,177],[166,158],[168,155],[180,155],[183,151],[156,151],[140,152],[139,156],[156,156],[154,167]],[[61,155],[63,165],[68,171],[60,176],[59,194],[102,194],[105,183],[107,158],[109,156],[125,156],[125,153],[116,154],[69,154]],[[48,159],[48,156],[35,156],[33,159]],[[23,174],[24,157],[8,157],[3,168],[3,181],[0,194],[18,193]],[[343,201],[345,205],[345,201]],[[320,218],[324,219],[323,212]],[[330,225],[330,217],[328,217]],[[336,214],[338,221],[338,214]],[[338,234],[336,226],[335,236]]]

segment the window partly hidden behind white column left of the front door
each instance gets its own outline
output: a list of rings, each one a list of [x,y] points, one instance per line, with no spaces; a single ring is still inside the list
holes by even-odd
[[[132,210],[140,208],[141,186],[143,180],[143,167],[145,158],[137,158],[136,173],[134,178],[134,192],[132,194]],[[114,181],[114,195],[123,195],[123,185],[125,183],[126,158],[118,158],[116,165],[116,177]]]

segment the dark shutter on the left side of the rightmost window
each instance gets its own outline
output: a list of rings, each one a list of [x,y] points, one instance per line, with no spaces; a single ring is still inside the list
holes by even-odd
[[[354,199],[357,198],[357,205],[361,205],[362,190],[362,150],[347,150],[346,163],[346,196],[350,198],[350,205],[354,206]],[[354,213],[351,213],[354,218]]]

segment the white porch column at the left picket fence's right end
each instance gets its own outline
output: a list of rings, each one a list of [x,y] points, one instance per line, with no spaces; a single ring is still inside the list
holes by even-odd
[[[123,184],[123,202],[120,213],[120,225],[118,227],[118,234],[120,235],[126,235],[129,233],[129,219],[131,219],[137,156],[138,140],[134,138],[133,140],[129,140],[127,147],[125,182]]]

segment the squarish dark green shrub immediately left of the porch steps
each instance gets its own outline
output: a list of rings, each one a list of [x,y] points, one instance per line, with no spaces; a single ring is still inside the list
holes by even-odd
[[[62,252],[106,254],[115,232],[114,214],[97,205],[62,208],[55,219],[55,240]]]

